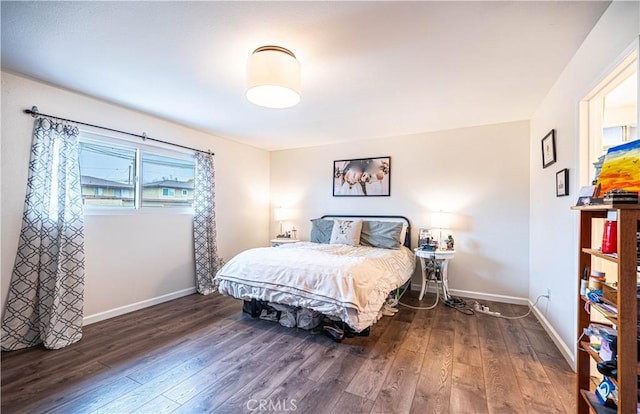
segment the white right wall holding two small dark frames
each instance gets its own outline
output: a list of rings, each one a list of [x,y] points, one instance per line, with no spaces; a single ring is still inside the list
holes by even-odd
[[[575,358],[578,295],[578,214],[580,183],[579,102],[637,41],[638,2],[613,2],[565,68],[531,119],[531,280],[530,299],[552,289],[543,315]],[[556,129],[557,162],[543,169],[540,140]],[[569,168],[570,195],[555,196],[555,173]],[[582,183],[583,185],[585,183]]]

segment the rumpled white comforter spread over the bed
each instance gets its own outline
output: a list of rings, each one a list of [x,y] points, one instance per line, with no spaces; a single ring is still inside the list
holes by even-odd
[[[360,331],[376,321],[389,292],[414,268],[405,247],[298,242],[244,251],[218,271],[215,282],[223,295],[310,308]]]

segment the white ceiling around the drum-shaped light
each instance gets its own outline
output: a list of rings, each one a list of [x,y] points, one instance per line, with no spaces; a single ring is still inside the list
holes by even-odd
[[[2,1],[2,67],[275,150],[529,119],[608,4]],[[244,96],[266,44],[293,108]]]

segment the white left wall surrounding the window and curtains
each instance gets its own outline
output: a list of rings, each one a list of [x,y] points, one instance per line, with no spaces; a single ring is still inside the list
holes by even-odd
[[[33,105],[52,115],[210,149],[216,154],[219,255],[229,259],[267,245],[268,152],[2,72],[2,309],[18,245],[33,130],[33,118],[22,111]],[[190,215],[88,215],[85,238],[85,317],[194,287]]]

